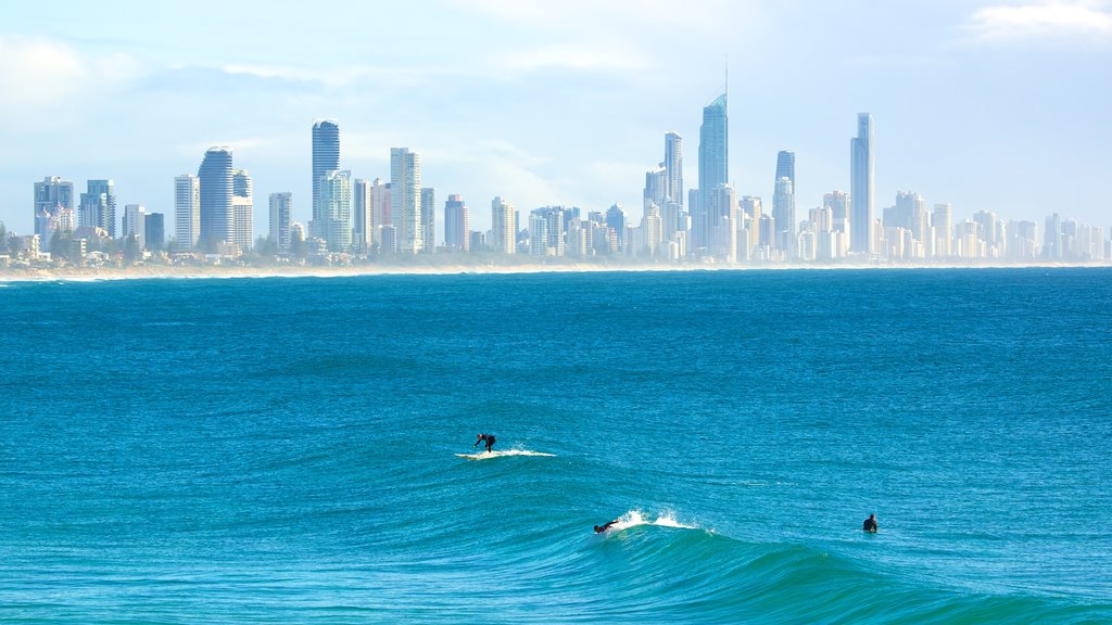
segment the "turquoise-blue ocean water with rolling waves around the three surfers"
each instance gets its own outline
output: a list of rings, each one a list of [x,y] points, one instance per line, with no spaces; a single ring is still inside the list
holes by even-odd
[[[0,317],[3,622],[1112,622],[1108,269],[9,282]],[[457,457],[480,431],[519,454]]]

